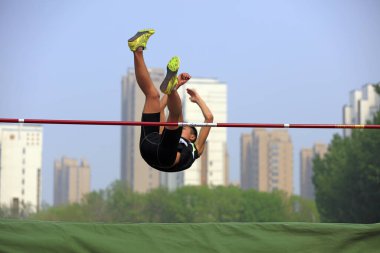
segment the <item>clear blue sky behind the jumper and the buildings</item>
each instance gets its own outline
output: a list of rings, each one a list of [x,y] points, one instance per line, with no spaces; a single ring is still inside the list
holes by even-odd
[[[120,120],[129,37],[156,34],[150,67],[173,55],[194,77],[228,84],[228,121],[340,123],[349,91],[380,81],[380,2],[0,0],[0,117]],[[230,178],[239,139],[228,129]],[[299,151],[337,130],[291,129],[294,188]],[[93,189],[119,178],[120,128],[45,125],[43,199],[53,161],[86,158]]]

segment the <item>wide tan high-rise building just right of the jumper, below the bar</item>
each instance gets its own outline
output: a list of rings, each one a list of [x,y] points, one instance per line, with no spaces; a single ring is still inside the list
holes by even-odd
[[[241,137],[241,187],[293,192],[293,144],[286,130],[254,129]]]

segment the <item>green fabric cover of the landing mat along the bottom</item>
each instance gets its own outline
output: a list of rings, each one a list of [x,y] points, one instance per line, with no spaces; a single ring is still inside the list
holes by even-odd
[[[380,224],[0,220],[0,252],[380,252]]]

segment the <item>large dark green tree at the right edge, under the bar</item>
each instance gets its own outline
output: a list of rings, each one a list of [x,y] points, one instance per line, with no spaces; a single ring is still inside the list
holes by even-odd
[[[380,112],[373,124],[380,124]],[[354,130],[335,135],[323,159],[313,163],[316,203],[322,221],[380,221],[380,132]]]

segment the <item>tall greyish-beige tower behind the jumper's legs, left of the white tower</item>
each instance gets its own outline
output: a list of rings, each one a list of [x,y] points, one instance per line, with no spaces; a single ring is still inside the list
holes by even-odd
[[[148,69],[154,85],[159,88],[165,77],[160,68]],[[134,69],[128,69],[122,78],[123,121],[141,121],[145,96],[140,90]],[[147,192],[160,185],[160,172],[151,168],[140,155],[140,127],[121,127],[121,179],[127,181],[133,191]]]

